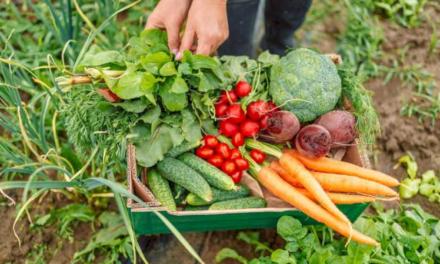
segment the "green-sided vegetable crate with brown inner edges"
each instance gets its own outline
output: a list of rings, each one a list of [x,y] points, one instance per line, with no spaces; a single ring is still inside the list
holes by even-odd
[[[370,163],[364,149],[359,145],[347,148],[342,154],[342,160],[353,164],[370,167]],[[143,207],[135,201],[128,200],[128,211],[134,225],[136,234],[163,234],[169,233],[169,229],[153,213],[153,210],[163,214],[174,226],[182,232],[204,232],[214,230],[238,230],[238,229],[261,229],[274,228],[278,218],[290,215],[303,224],[318,224],[301,211],[292,208],[288,204],[270,202],[268,207],[245,210],[222,210],[222,211],[167,211],[155,201],[153,194],[145,184],[141,182],[137,174],[137,165],[134,146],[129,146],[127,151],[127,177],[129,191],[144,200],[150,207]],[[250,177],[250,176],[249,176]],[[246,184],[246,183],[245,183]],[[250,186],[249,186],[250,187]],[[252,187],[250,187],[252,190]],[[263,190],[264,193],[264,190]],[[274,197],[271,197],[274,198]],[[276,198],[275,198],[276,199]],[[338,206],[351,221],[355,221],[368,204],[353,204]]]

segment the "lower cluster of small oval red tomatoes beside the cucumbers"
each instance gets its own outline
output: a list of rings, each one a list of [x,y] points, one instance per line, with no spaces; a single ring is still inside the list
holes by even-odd
[[[231,176],[235,183],[240,182],[243,171],[249,168],[249,163],[237,148],[231,149],[213,135],[203,138],[203,145],[196,149],[196,155]]]

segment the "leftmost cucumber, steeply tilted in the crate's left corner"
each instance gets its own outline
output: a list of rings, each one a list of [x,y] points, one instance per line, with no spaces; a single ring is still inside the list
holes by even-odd
[[[176,211],[176,203],[174,202],[173,193],[168,181],[155,169],[148,171],[147,178],[151,192],[153,192],[162,206],[168,208],[168,210]]]

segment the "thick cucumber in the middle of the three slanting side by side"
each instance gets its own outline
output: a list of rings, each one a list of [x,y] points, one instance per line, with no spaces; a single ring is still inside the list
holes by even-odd
[[[212,200],[212,191],[206,180],[195,170],[175,158],[164,158],[157,164],[159,173],[206,201]]]

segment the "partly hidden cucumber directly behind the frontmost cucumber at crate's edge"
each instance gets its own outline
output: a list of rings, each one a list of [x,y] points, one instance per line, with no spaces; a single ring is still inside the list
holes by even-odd
[[[194,205],[194,206],[208,205],[215,202],[246,197],[249,195],[249,193],[250,193],[249,188],[244,185],[239,185],[237,186],[237,190],[230,190],[230,191],[224,191],[224,190],[212,188],[211,202],[207,202],[193,193],[189,193],[186,196],[186,202],[189,205]]]

